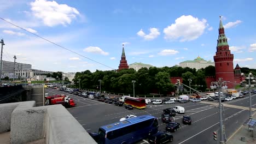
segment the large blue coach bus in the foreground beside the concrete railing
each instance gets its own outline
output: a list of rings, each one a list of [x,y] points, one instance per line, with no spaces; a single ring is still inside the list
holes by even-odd
[[[158,132],[158,120],[153,116],[138,116],[108,124],[98,130],[98,143],[128,144],[147,138]]]

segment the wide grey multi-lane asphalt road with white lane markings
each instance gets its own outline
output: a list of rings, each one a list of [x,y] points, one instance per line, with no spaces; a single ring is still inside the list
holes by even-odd
[[[191,125],[182,124],[183,115],[176,115],[175,121],[181,124],[173,134],[172,143],[217,143],[213,140],[213,131],[219,130],[219,109],[216,105],[208,103],[185,103],[185,104],[170,104],[170,105],[147,105],[144,110],[126,110],[123,106],[115,106],[114,104],[105,104],[96,100],[90,100],[77,95],[68,94],[57,91],[55,89],[46,89],[45,93],[51,94],[66,94],[74,99],[77,105],[69,108],[68,111],[77,119],[77,121],[88,132],[98,131],[102,125],[118,122],[120,118],[126,115],[152,115],[160,118],[162,110],[174,105],[180,105],[185,108],[185,115],[190,115],[192,118]],[[252,105],[256,106],[256,95],[252,94]],[[232,135],[249,116],[249,111],[246,107],[249,105],[248,97],[240,98],[225,102],[228,106],[224,107],[224,125],[226,138]],[[240,106],[240,107],[238,107]],[[241,106],[243,106],[241,108]],[[159,130],[165,131],[166,124],[159,119]],[[147,140],[137,142],[140,144],[148,143]]]

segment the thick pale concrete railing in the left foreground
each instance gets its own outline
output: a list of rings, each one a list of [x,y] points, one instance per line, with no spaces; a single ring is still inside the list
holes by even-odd
[[[45,143],[96,143],[62,105],[34,107],[35,101],[0,105],[0,133],[11,143],[45,139]]]

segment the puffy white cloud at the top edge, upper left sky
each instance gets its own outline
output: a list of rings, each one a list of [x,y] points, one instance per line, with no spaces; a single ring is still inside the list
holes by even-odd
[[[58,4],[55,1],[36,0],[30,3],[34,16],[42,19],[46,26],[70,24],[72,19],[79,15],[79,11],[67,4]]]

